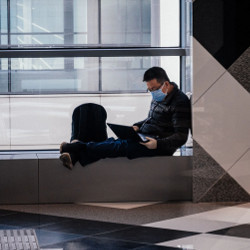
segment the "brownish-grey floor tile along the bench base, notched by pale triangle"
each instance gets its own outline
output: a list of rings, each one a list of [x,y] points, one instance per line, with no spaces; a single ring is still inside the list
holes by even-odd
[[[204,211],[239,205],[240,203],[193,203],[193,202],[167,202],[144,206],[136,209],[114,209],[107,207],[93,207],[77,204],[42,204],[42,205],[1,205],[5,210],[26,213],[40,213],[45,215],[70,217],[142,225],[155,221],[162,221]],[[138,216],[139,215],[139,216]]]

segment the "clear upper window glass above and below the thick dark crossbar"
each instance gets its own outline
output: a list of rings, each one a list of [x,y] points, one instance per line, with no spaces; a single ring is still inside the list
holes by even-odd
[[[180,46],[179,0],[0,2],[1,48],[52,50],[77,47],[88,49]],[[112,56],[112,53],[110,55]],[[136,81],[138,75],[142,75],[151,65],[165,64],[172,65],[168,71],[174,80],[179,82],[178,58],[25,56],[1,59],[0,92],[41,94],[144,91],[145,88],[139,84],[141,79]],[[119,85],[109,81],[112,78],[110,74],[116,75],[115,79],[120,81]]]

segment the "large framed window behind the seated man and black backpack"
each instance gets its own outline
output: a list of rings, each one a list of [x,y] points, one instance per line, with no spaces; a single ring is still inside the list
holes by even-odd
[[[134,110],[143,109],[150,99],[142,77],[152,66],[163,67],[190,90],[190,5],[185,0],[0,0],[0,149],[30,148],[34,143],[23,145],[27,135],[37,148],[55,148],[65,138],[59,133],[70,131],[72,109],[85,101],[105,105],[112,95],[133,103],[134,95],[143,100]],[[51,126],[36,124],[32,110],[21,118],[22,105],[36,107],[42,116],[47,107],[54,117],[61,115],[58,120],[67,116],[67,128],[52,129],[53,119]],[[120,117],[117,122],[130,121],[114,110],[117,115],[110,117]],[[143,116],[147,109],[138,112]],[[43,139],[34,139],[37,134]]]

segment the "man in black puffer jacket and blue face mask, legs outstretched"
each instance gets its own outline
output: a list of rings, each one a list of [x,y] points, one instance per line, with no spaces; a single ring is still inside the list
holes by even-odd
[[[147,142],[109,138],[103,142],[73,141],[60,146],[60,160],[69,169],[79,161],[82,166],[102,158],[126,156],[173,155],[187,141],[191,127],[191,107],[188,97],[170,82],[164,69],[152,67],[143,81],[152,95],[148,117],[133,125],[135,131],[148,135]]]

